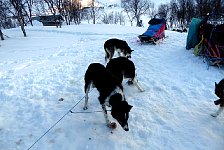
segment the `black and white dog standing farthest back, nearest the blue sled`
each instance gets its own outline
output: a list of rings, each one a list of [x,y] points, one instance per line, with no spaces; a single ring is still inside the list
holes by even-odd
[[[114,52],[117,51],[118,56],[131,58],[131,48],[126,41],[120,39],[109,39],[104,43],[105,61],[109,61],[114,56]],[[122,54],[122,55],[121,55]]]

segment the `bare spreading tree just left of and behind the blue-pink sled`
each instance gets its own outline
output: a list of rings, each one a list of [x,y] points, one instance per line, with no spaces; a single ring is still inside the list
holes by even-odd
[[[140,18],[142,15],[147,14],[151,1],[148,0],[124,0],[122,2],[124,11],[127,13],[131,25],[133,20],[136,19],[137,25],[140,26]]]

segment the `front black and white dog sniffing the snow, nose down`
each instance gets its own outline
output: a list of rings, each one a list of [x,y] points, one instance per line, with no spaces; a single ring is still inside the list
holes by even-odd
[[[131,105],[125,100],[123,87],[120,82],[102,65],[92,63],[85,73],[85,104],[86,110],[88,104],[88,93],[91,85],[99,91],[99,102],[102,106],[107,126],[110,126],[106,106],[111,107],[111,115],[115,118],[121,127],[128,131],[129,112]]]

